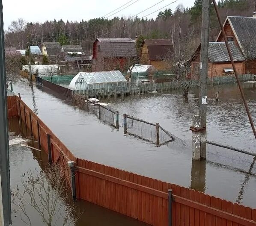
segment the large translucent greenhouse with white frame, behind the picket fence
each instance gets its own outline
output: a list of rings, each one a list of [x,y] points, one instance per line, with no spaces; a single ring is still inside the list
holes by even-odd
[[[79,72],[69,84],[73,90],[119,89],[127,80],[119,70]]]

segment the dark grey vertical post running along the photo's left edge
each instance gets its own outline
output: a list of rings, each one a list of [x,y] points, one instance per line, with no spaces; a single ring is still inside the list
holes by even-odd
[[[0,0],[0,226],[12,223],[6,99],[3,3]]]

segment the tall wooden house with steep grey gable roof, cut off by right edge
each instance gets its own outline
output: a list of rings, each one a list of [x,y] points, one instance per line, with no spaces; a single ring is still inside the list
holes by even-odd
[[[256,73],[256,12],[253,17],[228,16],[223,27],[228,41],[234,41],[246,59],[245,73]],[[221,31],[216,41],[224,41]]]

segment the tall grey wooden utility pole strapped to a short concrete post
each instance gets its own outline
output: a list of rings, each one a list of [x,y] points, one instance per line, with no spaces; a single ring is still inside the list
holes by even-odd
[[[202,31],[200,57],[200,91],[199,115],[201,118],[200,130],[200,159],[206,158],[206,109],[207,109],[207,80],[208,80],[208,45],[209,45],[209,14],[210,0],[202,1]]]

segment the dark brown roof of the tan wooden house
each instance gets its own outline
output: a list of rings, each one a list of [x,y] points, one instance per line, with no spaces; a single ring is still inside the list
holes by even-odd
[[[149,60],[161,60],[173,53],[173,43],[170,39],[150,39],[144,40],[149,52]]]

